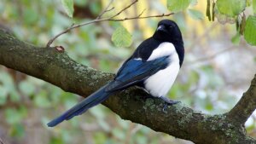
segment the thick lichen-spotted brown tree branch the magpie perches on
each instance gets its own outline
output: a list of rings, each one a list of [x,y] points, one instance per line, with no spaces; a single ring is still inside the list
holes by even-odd
[[[65,52],[22,42],[3,30],[0,30],[0,64],[84,97],[114,76],[83,66]],[[197,144],[253,144],[256,141],[247,136],[243,125],[256,107],[255,86],[256,75],[236,106],[218,115],[196,112],[182,103],[162,112],[164,101],[137,87],[112,95],[103,105],[123,119]]]

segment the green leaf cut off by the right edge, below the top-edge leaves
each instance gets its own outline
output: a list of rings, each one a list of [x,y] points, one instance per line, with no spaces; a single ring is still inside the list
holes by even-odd
[[[256,16],[250,15],[247,18],[244,38],[246,39],[247,43],[256,45]]]

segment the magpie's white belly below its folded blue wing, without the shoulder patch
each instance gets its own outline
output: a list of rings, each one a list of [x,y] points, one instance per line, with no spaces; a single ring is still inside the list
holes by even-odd
[[[179,63],[173,62],[166,69],[156,72],[145,80],[145,89],[155,97],[166,96],[177,77],[179,68]]]

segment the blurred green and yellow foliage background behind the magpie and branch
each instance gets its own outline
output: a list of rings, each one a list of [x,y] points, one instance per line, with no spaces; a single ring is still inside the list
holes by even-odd
[[[114,14],[131,3],[113,1]],[[0,26],[16,37],[44,47],[49,38],[72,23],[94,20],[108,5],[104,0],[74,0],[73,20],[65,13],[61,0],[1,0]],[[207,2],[199,0],[193,9],[206,12]],[[169,13],[166,1],[141,0],[119,18]],[[104,21],[74,29],[53,45],[61,45],[67,55],[79,63],[103,72],[116,72],[122,61],[137,45],[150,37],[159,20]],[[183,32],[185,60],[169,97],[182,101],[197,111],[210,114],[228,112],[248,88],[256,72],[256,50],[243,38],[232,43],[235,25],[221,25],[206,16],[196,17],[189,11],[167,19],[177,21]],[[111,36],[124,26],[132,36],[128,48],[113,45]],[[78,82],[79,84],[79,82]],[[0,66],[0,137],[6,144],[189,144],[164,133],[154,132],[141,124],[122,120],[99,105],[82,116],[58,125],[46,126],[50,119],[72,107],[82,98],[52,84]],[[256,138],[256,116],[247,120],[248,135]]]

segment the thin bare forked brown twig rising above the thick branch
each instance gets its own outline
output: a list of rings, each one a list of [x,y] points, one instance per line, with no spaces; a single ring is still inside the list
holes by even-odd
[[[113,3],[113,1],[110,1],[110,3],[108,3],[108,6],[106,7],[106,9],[104,9],[102,11],[102,13],[99,14],[99,16],[97,16],[97,18],[95,20],[91,20],[91,21],[85,22],[83,24],[78,24],[78,25],[74,25],[73,24],[72,26],[69,26],[63,32],[60,32],[55,37],[52,37],[51,39],[49,39],[49,42],[47,43],[46,47],[49,47],[50,44],[53,43],[57,37],[60,37],[62,34],[67,33],[69,31],[73,30],[74,28],[77,28],[77,27],[80,27],[80,26],[85,26],[85,25],[89,25],[89,24],[96,23],[96,22],[101,22],[101,21],[125,21],[125,20],[134,20],[134,19],[148,19],[148,18],[153,18],[153,17],[166,17],[166,16],[170,16],[170,15],[174,14],[174,13],[169,13],[169,14],[158,14],[158,15],[141,16],[143,14],[143,12],[145,11],[145,9],[144,9],[143,12],[141,14],[138,14],[137,16],[123,18],[123,19],[114,19],[116,16],[118,16],[119,14],[124,12],[126,9],[129,9],[133,4],[135,4],[137,2],[138,2],[138,0],[135,0],[134,2],[132,2],[131,4],[126,6],[124,9],[121,9],[117,14],[113,14],[113,16],[110,16],[108,18],[101,18],[103,14],[105,14],[106,12],[114,9],[114,8],[108,9],[109,6],[111,5],[111,3]]]

